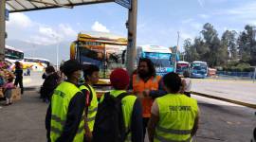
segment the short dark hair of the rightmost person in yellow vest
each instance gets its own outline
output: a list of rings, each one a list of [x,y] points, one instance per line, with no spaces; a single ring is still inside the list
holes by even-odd
[[[171,91],[171,93],[177,93],[182,85],[181,79],[178,74],[172,72],[163,77],[164,85]]]

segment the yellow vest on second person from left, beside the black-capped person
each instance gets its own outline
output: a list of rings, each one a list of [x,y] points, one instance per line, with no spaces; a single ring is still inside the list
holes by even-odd
[[[90,106],[88,107],[88,114],[87,114],[87,121],[88,121],[88,127],[90,129],[90,131],[92,132],[93,131],[93,127],[94,127],[94,122],[95,122],[95,116],[97,114],[97,111],[98,111],[98,99],[97,99],[97,94],[94,90],[93,87],[91,87],[89,84],[88,86],[90,87],[87,88],[87,86],[85,85],[81,85],[80,86],[80,90],[87,90],[88,92],[90,92],[90,90],[92,91],[92,99],[91,99],[91,102],[90,102]]]

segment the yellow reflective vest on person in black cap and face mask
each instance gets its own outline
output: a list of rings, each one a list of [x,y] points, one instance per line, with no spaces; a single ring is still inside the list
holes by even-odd
[[[66,115],[70,100],[79,93],[80,90],[70,82],[62,82],[55,90],[51,98],[51,122],[50,139],[56,141],[64,131]],[[83,140],[84,133],[84,113],[78,131],[73,139],[74,142]]]

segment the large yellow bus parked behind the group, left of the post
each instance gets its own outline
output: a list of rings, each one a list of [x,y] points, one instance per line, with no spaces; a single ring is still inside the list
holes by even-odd
[[[117,67],[125,67],[122,53],[127,40],[118,35],[103,32],[79,33],[77,41],[70,45],[70,59],[82,64],[95,64],[100,67],[100,77],[108,78]]]

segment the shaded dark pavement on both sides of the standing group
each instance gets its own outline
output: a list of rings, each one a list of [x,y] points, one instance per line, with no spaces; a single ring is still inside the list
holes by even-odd
[[[256,126],[255,110],[212,100],[198,99],[201,110],[197,142],[246,142]],[[47,104],[36,91],[26,91],[22,100],[11,106],[0,101],[1,142],[46,142],[45,115]]]

